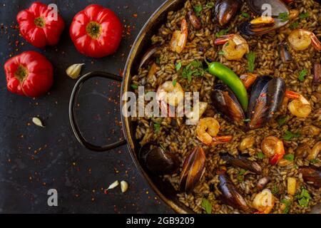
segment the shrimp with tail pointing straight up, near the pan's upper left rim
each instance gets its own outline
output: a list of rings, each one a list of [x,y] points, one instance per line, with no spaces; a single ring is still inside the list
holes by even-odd
[[[188,26],[185,19],[182,20],[180,31],[174,31],[170,40],[170,50],[181,53],[185,48],[188,38]]]

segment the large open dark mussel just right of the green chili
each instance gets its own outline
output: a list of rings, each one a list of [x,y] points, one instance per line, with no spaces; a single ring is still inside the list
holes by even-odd
[[[265,125],[280,109],[285,97],[285,81],[282,78],[272,78],[268,82],[266,77],[257,80],[252,88],[248,109],[250,129]]]

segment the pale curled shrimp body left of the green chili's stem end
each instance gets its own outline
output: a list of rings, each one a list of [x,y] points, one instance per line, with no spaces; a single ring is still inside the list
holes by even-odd
[[[156,93],[156,100],[164,101],[168,105],[177,106],[180,102],[183,102],[184,90],[180,83],[173,85],[172,81],[166,81],[158,87]]]

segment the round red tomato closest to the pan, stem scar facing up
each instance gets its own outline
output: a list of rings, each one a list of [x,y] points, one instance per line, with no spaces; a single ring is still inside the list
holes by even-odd
[[[77,50],[93,58],[114,53],[119,43],[123,26],[113,11],[100,5],[87,6],[73,18],[70,36]]]

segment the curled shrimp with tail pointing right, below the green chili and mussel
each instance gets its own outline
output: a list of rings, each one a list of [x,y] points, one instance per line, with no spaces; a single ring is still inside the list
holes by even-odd
[[[232,136],[225,135],[219,136],[218,132],[220,131],[220,123],[215,118],[203,118],[200,119],[198,126],[196,128],[197,138],[203,142],[205,145],[215,146],[232,140]]]

